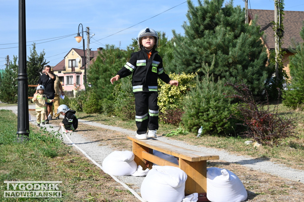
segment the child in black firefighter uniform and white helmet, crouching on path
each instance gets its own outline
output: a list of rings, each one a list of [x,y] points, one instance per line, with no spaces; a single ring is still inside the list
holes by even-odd
[[[71,110],[65,104],[61,104],[57,109],[57,114],[59,113],[64,115],[64,119],[62,123],[60,123],[60,126],[63,125],[66,129],[64,132],[69,133],[75,131],[78,127],[78,119],[75,116],[76,111]]]

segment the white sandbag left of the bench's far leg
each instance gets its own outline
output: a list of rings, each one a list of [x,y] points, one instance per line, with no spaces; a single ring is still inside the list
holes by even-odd
[[[109,175],[130,176],[137,170],[134,154],[130,151],[114,151],[102,162],[102,169]]]

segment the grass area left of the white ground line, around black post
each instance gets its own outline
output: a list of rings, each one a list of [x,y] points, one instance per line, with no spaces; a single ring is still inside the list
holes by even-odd
[[[4,197],[3,181],[62,181],[58,186],[62,198],[18,201],[135,201],[128,191],[118,191],[122,186],[108,174],[63,144],[56,133],[30,127],[29,141],[19,143],[16,115],[0,110],[0,117],[0,201],[16,201]]]

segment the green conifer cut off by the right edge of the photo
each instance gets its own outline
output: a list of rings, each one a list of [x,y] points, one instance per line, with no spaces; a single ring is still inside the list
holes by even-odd
[[[304,24],[303,24],[304,25]],[[300,31],[300,36],[304,40],[304,26]],[[287,91],[283,91],[282,98],[285,106],[293,109],[304,109],[304,43],[296,44],[293,41],[295,50],[290,49],[293,56],[289,56],[289,70],[290,70],[290,85]]]

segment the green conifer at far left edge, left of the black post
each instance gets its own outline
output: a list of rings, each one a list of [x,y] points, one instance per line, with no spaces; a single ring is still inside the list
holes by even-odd
[[[13,63],[6,66],[2,76],[0,76],[0,100],[11,104],[18,100],[18,57],[14,56]]]

